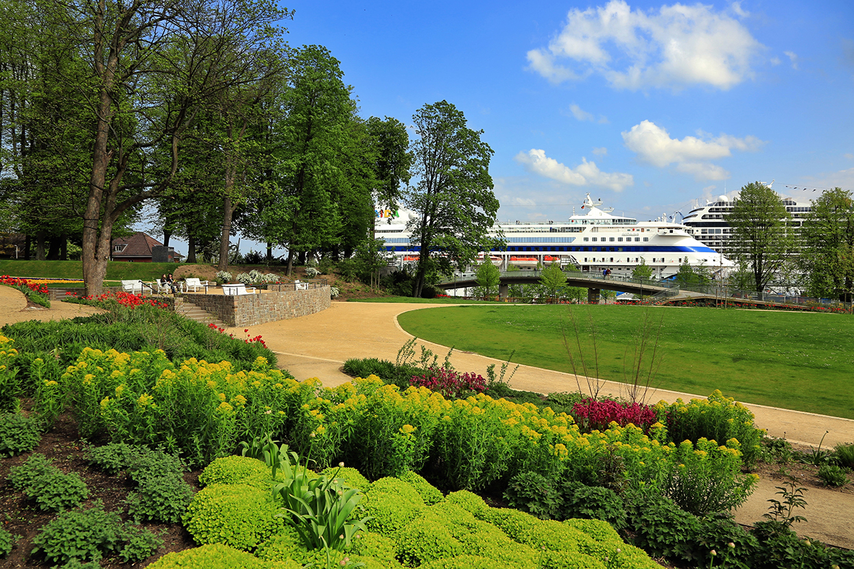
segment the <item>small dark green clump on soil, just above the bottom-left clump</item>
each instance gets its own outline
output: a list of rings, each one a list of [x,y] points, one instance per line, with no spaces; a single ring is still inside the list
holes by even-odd
[[[63,473],[38,453],[31,455],[24,464],[11,467],[9,481],[42,510],[73,508],[89,496],[78,473]]]

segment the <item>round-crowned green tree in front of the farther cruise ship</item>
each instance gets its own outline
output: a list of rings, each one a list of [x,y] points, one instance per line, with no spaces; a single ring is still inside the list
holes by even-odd
[[[791,216],[777,193],[761,182],[741,189],[729,215],[730,241],[753,274],[757,292],[762,292],[776,273],[793,258],[796,242]]]

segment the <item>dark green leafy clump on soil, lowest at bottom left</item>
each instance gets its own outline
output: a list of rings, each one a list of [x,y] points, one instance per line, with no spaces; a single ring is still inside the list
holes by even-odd
[[[162,541],[149,530],[122,524],[119,514],[104,511],[101,502],[96,502],[88,509],[59,514],[32,543],[36,546],[33,553],[44,554],[48,563],[100,560],[111,554],[136,562],[153,554]]]

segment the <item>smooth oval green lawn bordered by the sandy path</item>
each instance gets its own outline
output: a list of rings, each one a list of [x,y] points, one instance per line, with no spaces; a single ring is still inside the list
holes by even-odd
[[[571,372],[562,330],[574,344],[570,311],[588,365],[596,329],[600,377],[623,380],[646,311],[664,356],[653,386],[854,419],[854,317],[815,312],[640,306],[453,306],[398,317],[410,334],[457,350]],[[577,348],[576,348],[577,350]]]

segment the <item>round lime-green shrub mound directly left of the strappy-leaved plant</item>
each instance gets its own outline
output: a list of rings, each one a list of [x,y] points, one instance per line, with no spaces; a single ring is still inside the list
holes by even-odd
[[[213,485],[198,492],[184,514],[196,543],[254,549],[282,529],[272,495],[249,485]]]

